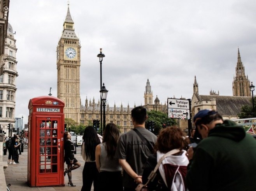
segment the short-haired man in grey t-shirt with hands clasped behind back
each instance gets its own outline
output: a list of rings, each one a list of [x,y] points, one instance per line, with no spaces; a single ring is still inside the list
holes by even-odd
[[[153,147],[156,143],[156,136],[145,128],[147,120],[146,108],[139,106],[132,110],[132,122],[144,138],[149,141]],[[134,191],[138,183],[142,183],[142,166],[151,154],[150,148],[142,141],[139,135],[131,130],[121,135],[116,158],[124,169],[123,186],[124,191]]]

